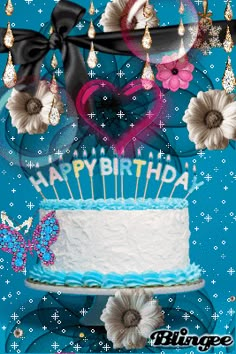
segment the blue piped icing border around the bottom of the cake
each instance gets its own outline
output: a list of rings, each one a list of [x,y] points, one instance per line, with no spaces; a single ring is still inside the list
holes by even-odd
[[[201,277],[201,269],[195,263],[185,269],[164,272],[144,272],[117,274],[102,274],[97,271],[90,271],[83,274],[71,272],[54,272],[41,264],[37,264],[29,273],[31,281],[50,285],[63,285],[71,287],[99,287],[99,288],[136,288],[142,286],[172,286],[178,284],[192,283]]]

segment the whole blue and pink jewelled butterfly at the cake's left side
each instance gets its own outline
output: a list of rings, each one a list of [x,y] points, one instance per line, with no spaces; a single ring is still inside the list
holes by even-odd
[[[32,222],[32,219],[29,220]],[[16,272],[24,270],[27,253],[32,254],[33,250],[43,264],[54,264],[55,255],[50,246],[56,242],[60,232],[55,211],[43,217],[33,233],[32,241],[29,240],[27,243],[18,230],[19,228],[14,228],[12,223],[0,224],[0,249],[13,255],[11,265]]]

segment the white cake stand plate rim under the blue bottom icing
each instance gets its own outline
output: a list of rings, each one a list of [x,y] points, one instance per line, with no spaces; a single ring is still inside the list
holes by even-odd
[[[25,281],[25,285],[31,289],[39,290],[39,291],[47,291],[47,292],[61,292],[62,294],[72,294],[72,295],[103,295],[110,296],[114,295],[116,291],[122,290],[122,288],[112,288],[112,289],[104,289],[104,288],[88,288],[88,287],[69,287],[69,286],[60,286],[60,285],[50,285],[40,282],[34,282],[32,280],[27,279]],[[150,287],[140,287],[145,290],[151,290],[154,295],[165,295],[165,294],[177,294],[177,293],[185,293],[190,291],[196,291],[202,289],[205,285],[205,281],[203,279],[199,279],[196,282],[182,284],[182,285],[172,285],[172,286],[150,286]],[[126,288],[127,289],[127,288]],[[134,288],[128,288],[134,289]],[[135,288],[135,289],[138,289]]]

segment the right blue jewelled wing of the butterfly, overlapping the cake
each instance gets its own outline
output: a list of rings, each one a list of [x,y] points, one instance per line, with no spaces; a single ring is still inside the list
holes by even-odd
[[[53,264],[55,261],[55,255],[50,250],[50,246],[56,242],[59,232],[59,222],[55,211],[45,215],[34,231],[32,246],[45,265]]]

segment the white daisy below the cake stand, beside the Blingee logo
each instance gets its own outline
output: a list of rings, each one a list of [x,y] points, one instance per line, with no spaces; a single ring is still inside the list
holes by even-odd
[[[143,289],[117,291],[101,316],[114,349],[143,348],[150,334],[164,325],[163,319],[158,301]]]

